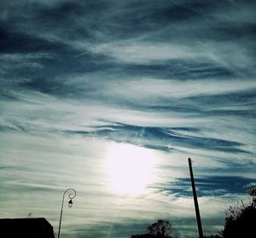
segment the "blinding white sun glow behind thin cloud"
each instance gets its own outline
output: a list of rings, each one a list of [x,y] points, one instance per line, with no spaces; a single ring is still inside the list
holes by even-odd
[[[152,179],[154,156],[150,149],[129,144],[110,148],[106,168],[113,191],[119,194],[143,194]]]

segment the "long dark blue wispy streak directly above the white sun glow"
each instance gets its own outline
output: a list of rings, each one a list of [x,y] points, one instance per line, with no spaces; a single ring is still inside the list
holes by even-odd
[[[224,151],[230,153],[247,153],[241,147],[240,142],[210,138],[204,136],[188,136],[183,131],[198,131],[196,128],[160,128],[138,125],[125,125],[114,123],[106,128],[100,127],[94,132],[67,131],[67,133],[83,136],[101,136],[115,142],[129,142],[145,148],[160,149],[168,151],[172,148],[201,148],[213,151]],[[148,144],[148,142],[154,142]]]

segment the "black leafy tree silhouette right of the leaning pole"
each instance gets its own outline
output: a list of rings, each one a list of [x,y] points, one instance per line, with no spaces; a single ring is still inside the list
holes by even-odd
[[[221,235],[224,238],[253,238],[256,232],[256,187],[249,190],[250,200],[233,202],[227,210],[224,229]]]

